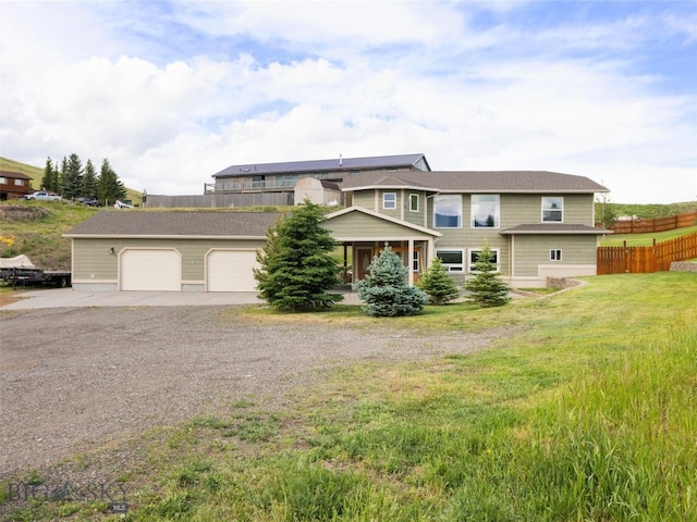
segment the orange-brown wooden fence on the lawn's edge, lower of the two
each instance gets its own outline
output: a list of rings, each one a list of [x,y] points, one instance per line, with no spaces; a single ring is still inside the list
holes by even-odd
[[[652,247],[598,247],[598,275],[648,274],[670,270],[674,261],[697,258],[697,233],[676,237]]]

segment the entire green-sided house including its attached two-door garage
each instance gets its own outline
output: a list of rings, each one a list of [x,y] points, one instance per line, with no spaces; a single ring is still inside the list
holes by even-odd
[[[301,184],[298,194],[337,192],[316,182]],[[488,244],[512,286],[545,286],[547,277],[595,275],[598,238],[610,233],[594,227],[595,194],[608,189],[583,176],[368,171],[342,184],[346,208],[322,226],[343,244],[354,282],[386,244],[402,256],[412,283],[435,257],[463,279]],[[254,291],[256,251],[278,216],[99,212],[65,234],[73,241],[73,288]]]

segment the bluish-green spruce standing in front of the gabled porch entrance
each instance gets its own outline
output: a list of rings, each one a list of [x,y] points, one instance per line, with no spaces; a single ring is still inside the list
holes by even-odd
[[[372,258],[368,275],[356,283],[358,297],[366,301],[363,311],[378,318],[419,313],[428,296],[409,286],[407,275],[408,269],[402,259],[386,244],[384,250]]]

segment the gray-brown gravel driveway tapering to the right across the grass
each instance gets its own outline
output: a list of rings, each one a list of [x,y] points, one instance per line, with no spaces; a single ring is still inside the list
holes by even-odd
[[[501,332],[255,325],[230,307],[61,308],[0,315],[0,478],[213,411],[282,407],[318,369],[486,347]]]

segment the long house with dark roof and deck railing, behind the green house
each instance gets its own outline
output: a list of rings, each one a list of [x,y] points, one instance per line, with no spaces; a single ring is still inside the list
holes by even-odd
[[[293,192],[299,179],[311,177],[333,182],[363,171],[405,172],[430,171],[424,154],[381,156],[370,158],[337,158],[333,160],[289,161],[231,165],[213,174],[215,183],[205,192],[234,194],[248,191]],[[299,201],[295,201],[298,203]]]

